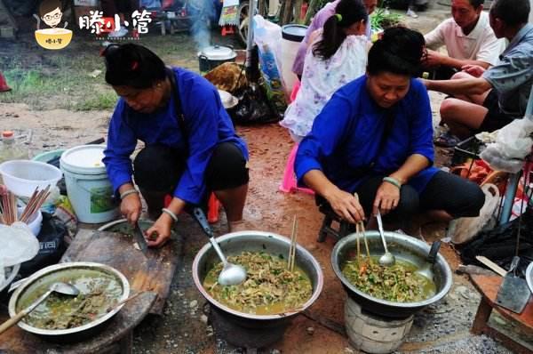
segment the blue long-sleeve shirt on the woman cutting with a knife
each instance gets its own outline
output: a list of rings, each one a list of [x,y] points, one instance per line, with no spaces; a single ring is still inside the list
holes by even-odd
[[[217,89],[191,71],[183,68],[173,68],[173,71],[186,133],[180,128],[174,93],[165,107],[149,114],[134,111],[120,98],[109,124],[103,162],[116,192],[124,183],[131,182],[131,153],[138,140],[147,146],[163,144],[178,149],[187,160],[173,195],[187,203],[198,204],[205,193],[204,172],[215,146],[233,142],[247,160],[248,150],[235,134]]]

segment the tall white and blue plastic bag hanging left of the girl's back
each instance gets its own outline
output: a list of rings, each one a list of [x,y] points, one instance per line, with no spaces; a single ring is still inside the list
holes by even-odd
[[[280,44],[282,42],[282,28],[267,21],[261,15],[253,18],[254,41],[258,44],[259,65],[265,79],[267,98],[278,112],[287,109],[285,92],[282,84],[282,67]]]

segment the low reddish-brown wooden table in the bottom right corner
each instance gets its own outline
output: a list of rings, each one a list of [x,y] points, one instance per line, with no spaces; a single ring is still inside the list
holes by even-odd
[[[496,303],[497,291],[502,284],[503,278],[499,276],[486,276],[472,274],[470,276],[473,286],[481,293],[481,302],[473,320],[472,333],[473,334],[487,334],[495,338],[503,344],[517,352],[532,354],[533,351],[526,348],[519,342],[515,342],[513,338],[499,332],[496,328],[489,326],[489,317],[492,310],[497,312],[505,319],[513,321],[521,330],[533,335],[533,297],[529,298],[526,308],[521,314],[514,313],[510,310],[505,310]]]

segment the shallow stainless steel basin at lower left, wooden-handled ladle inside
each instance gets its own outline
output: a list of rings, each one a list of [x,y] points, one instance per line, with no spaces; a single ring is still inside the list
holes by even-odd
[[[54,264],[50,267],[46,267],[43,270],[37,271],[31,277],[28,278],[17,290],[12,294],[12,297],[9,301],[9,316],[14,317],[17,314],[17,311],[20,310],[18,303],[20,299],[24,297],[25,294],[30,294],[32,291],[35,291],[36,287],[43,285],[52,285],[55,281],[65,280],[67,277],[68,271],[77,270],[77,269],[86,269],[86,270],[98,270],[106,275],[116,278],[119,284],[122,286],[122,295],[118,301],[126,299],[130,295],[130,283],[121,272],[115,270],[112,267],[109,267],[105,264],[93,263],[89,261],[77,261],[70,263],[60,263]],[[67,279],[68,280],[68,279]],[[87,338],[91,334],[96,333],[99,328],[109,319],[115,316],[115,314],[123,308],[123,305],[119,306],[115,310],[110,311],[106,315],[96,318],[92,322],[85,324],[84,326],[77,326],[74,328],[68,329],[43,329],[36,328],[34,326],[29,326],[27,323],[22,321],[19,322],[18,326],[33,334],[39,334],[47,339],[52,339],[54,341],[63,341],[72,342],[72,340],[81,340]]]

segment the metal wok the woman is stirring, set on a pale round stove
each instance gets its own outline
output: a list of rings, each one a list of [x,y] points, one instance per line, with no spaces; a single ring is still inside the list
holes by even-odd
[[[369,242],[370,256],[382,255],[384,251],[378,231],[367,231],[365,235]],[[358,302],[362,309],[378,316],[407,318],[427,305],[441,300],[442,297],[448,294],[452,284],[451,270],[449,270],[449,265],[441,254],[437,255],[437,260],[434,264],[436,293],[431,298],[422,302],[389,302],[363,293],[350,284],[341,271],[345,262],[353,258],[356,253],[357,237],[357,234],[350,234],[338,241],[331,253],[331,265],[335,275],[345,287],[348,296]],[[409,261],[418,268],[426,263],[430,246],[425,242],[396,232],[385,232],[385,237],[388,249],[394,254],[396,260]],[[360,242],[362,242],[362,239],[360,239]]]

